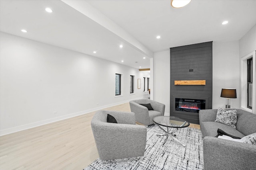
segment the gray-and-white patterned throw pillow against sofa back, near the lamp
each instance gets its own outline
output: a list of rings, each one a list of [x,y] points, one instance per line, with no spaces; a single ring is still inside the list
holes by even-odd
[[[236,112],[237,112],[237,109],[225,110],[219,107],[215,121],[234,127],[236,129],[236,121],[237,121]]]

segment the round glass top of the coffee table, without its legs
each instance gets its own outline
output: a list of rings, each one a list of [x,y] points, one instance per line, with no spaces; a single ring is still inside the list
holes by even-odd
[[[165,127],[182,128],[189,126],[188,121],[175,116],[156,116],[153,118],[153,121]]]

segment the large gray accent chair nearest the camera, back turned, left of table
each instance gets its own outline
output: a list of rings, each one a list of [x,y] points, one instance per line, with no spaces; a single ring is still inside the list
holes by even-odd
[[[108,123],[107,114],[117,123]],[[144,156],[147,128],[135,124],[134,113],[100,110],[92,117],[91,126],[101,160]]]

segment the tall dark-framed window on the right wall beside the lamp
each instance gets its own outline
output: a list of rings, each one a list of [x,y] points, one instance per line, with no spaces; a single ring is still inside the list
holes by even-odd
[[[252,58],[247,59],[247,107],[252,109]]]

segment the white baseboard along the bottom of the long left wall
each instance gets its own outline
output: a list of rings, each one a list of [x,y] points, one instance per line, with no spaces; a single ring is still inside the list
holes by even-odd
[[[149,96],[135,98],[135,99],[132,99],[132,100],[137,100],[137,99],[142,99],[142,98],[149,98]],[[92,108],[92,109],[87,109],[87,110],[84,110],[84,111],[79,111],[79,112],[76,112],[76,113],[71,113],[71,114],[68,114],[68,115],[60,116],[60,117],[54,117],[52,119],[46,119],[46,120],[42,120],[42,121],[38,121],[38,122],[34,122],[34,123],[29,123],[29,124],[26,124],[26,125],[12,127],[12,128],[8,128],[8,129],[3,129],[3,130],[0,130],[0,136],[8,135],[10,133],[15,133],[15,132],[18,132],[18,131],[23,131],[23,130],[30,129],[30,128],[33,128],[33,127],[46,125],[48,123],[53,123],[53,122],[68,119],[68,118],[71,118],[71,117],[76,117],[76,116],[79,116],[79,115],[90,113],[92,111],[97,111],[97,110],[100,110],[100,109],[116,106],[116,105],[119,105],[119,104],[124,104],[124,103],[127,103],[127,102],[130,102],[130,100],[126,100],[126,101],[122,101],[122,102],[118,102],[118,103],[114,103],[114,104],[108,104],[108,105],[105,105],[105,106],[95,107],[95,108]]]

